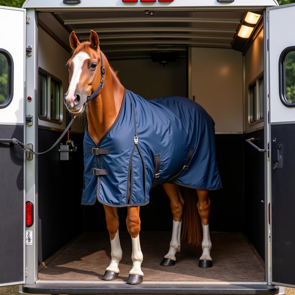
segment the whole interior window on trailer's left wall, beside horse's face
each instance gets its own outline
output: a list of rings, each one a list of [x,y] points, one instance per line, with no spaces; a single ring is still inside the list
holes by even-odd
[[[40,69],[38,75],[38,112],[40,119],[59,124],[62,122],[61,94],[62,83]]]

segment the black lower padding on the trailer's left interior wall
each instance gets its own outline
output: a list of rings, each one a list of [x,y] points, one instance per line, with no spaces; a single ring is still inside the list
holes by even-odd
[[[72,160],[59,160],[59,145],[38,156],[38,260],[47,259],[83,229],[83,134],[70,133],[78,147]],[[38,130],[38,150],[47,150],[61,132]],[[61,142],[65,144],[67,135]]]

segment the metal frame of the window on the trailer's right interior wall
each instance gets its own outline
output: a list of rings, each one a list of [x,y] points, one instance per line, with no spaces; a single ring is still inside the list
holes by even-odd
[[[261,80],[263,80],[263,83],[261,83]],[[256,86],[256,101],[254,101],[255,119],[252,121],[251,120],[251,88],[254,86]],[[249,87],[248,87],[248,124],[249,126],[263,122],[264,120],[265,94],[263,94],[263,92],[264,92],[264,73],[262,71],[258,76],[256,76],[255,79],[251,81],[251,83],[249,83]],[[264,104],[263,104],[262,113],[260,113],[262,100]]]

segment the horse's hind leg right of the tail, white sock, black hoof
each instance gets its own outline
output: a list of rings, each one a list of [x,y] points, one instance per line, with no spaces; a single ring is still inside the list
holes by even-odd
[[[210,213],[210,199],[209,192],[204,190],[198,190],[198,211],[202,221],[203,227],[203,241],[202,241],[202,250],[203,253],[199,259],[199,267],[208,268],[212,267],[212,258],[210,256],[210,251],[212,248],[212,243],[210,240],[209,234],[209,213]]]

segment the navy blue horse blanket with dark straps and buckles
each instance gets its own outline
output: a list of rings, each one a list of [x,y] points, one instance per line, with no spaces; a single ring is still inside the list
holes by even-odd
[[[222,187],[215,155],[214,122],[183,97],[145,100],[125,90],[114,124],[98,143],[84,136],[82,204],[148,204],[152,186],[177,183]]]

